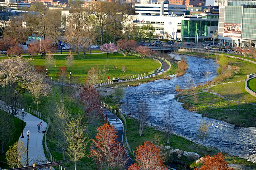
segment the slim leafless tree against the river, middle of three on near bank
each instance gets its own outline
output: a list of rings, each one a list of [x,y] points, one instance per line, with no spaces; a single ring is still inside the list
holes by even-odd
[[[172,127],[173,127],[173,115],[170,109],[168,109],[167,113],[162,118],[162,122],[163,122],[164,132],[166,133],[166,140],[167,140],[167,143],[169,143],[170,134],[172,133]]]

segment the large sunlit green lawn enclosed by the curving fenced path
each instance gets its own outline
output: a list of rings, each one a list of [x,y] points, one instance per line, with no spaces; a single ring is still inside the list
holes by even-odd
[[[51,76],[53,79],[56,77],[59,66],[66,66],[69,71],[69,68],[65,63],[66,55],[57,55],[55,58],[56,67],[51,68],[51,73],[49,74],[49,76]],[[74,58],[75,63],[71,67],[71,73],[74,76],[78,76],[81,81],[87,77],[86,74],[91,67],[97,67],[97,65],[99,65],[101,69],[107,65],[107,54],[86,54],[86,58],[83,58],[83,55],[79,55],[79,59],[77,59],[77,55],[74,55]],[[115,64],[117,69],[113,69],[115,58],[117,59]],[[40,59],[40,56],[35,56],[33,62],[35,65],[45,65],[44,59]],[[117,53],[114,55],[110,54],[108,63],[109,71],[106,76],[110,76],[110,78],[113,76],[115,78],[125,77],[125,74],[123,74],[121,71],[123,65],[127,67],[126,76],[129,76],[153,71],[158,67],[158,62],[146,58],[142,60],[141,58],[134,56],[124,57],[123,55]],[[102,76],[100,78],[103,80]]]

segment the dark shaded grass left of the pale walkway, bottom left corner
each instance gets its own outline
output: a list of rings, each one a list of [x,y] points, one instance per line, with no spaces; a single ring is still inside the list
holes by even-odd
[[[13,134],[13,140],[9,143],[9,144],[6,144],[6,145],[3,145],[3,152],[4,154],[1,155],[0,154],[0,166],[2,169],[9,169],[9,168],[12,168],[12,167],[8,167],[7,163],[6,162],[6,159],[5,159],[5,153],[7,152],[7,150],[9,149],[9,146],[13,145],[16,141],[19,140],[20,138],[20,134],[22,133],[22,131],[20,129],[22,129],[22,120],[20,120],[19,118],[16,118],[16,117],[13,117],[13,123],[14,123],[14,126],[15,126],[15,132]],[[24,122],[24,128],[26,126],[26,122]],[[1,147],[2,147],[2,143],[1,143]]]

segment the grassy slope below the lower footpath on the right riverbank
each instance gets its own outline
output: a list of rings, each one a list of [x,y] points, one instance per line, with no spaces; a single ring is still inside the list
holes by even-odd
[[[256,110],[240,110],[239,112],[237,110],[256,108],[254,105],[245,103],[238,105],[238,103],[230,101],[228,107],[227,100],[222,99],[220,103],[220,97],[207,92],[197,94],[197,97],[196,106],[194,105],[193,96],[191,96],[190,101],[188,101],[188,97],[181,98],[179,101],[184,103],[183,107],[185,109],[196,111],[197,113],[209,118],[222,120],[237,126],[256,126]],[[210,103],[212,103],[212,109],[210,109]],[[236,110],[228,111],[227,109]]]

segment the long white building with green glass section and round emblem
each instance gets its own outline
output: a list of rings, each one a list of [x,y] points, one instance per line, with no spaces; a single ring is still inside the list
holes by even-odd
[[[169,39],[178,41],[195,40],[195,35],[199,33],[199,41],[204,38],[213,37],[212,34],[218,30],[218,19],[212,19],[213,14],[201,14],[201,16],[149,16],[135,15],[137,21],[133,26],[151,24],[154,27],[154,35],[159,39]],[[139,20],[139,22],[138,22]],[[210,24],[209,24],[210,23]],[[215,23],[214,25],[211,25]],[[193,26],[187,27],[186,24]],[[200,25],[201,24],[201,25]],[[195,26],[198,25],[198,26]],[[198,31],[197,31],[198,30]],[[197,31],[197,32],[196,32]],[[200,34],[201,33],[201,34]],[[204,41],[207,41],[205,39]],[[208,41],[211,41],[208,39]]]

